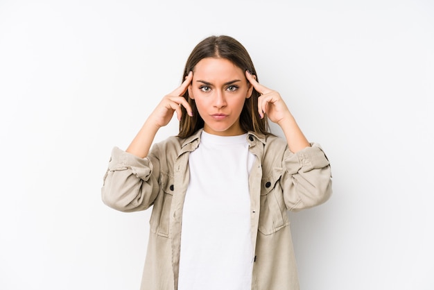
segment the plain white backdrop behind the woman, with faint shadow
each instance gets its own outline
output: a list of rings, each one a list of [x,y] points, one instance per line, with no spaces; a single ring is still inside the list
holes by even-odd
[[[0,0],[0,289],[139,289],[150,210],[103,205],[103,175],[213,34],[331,161],[290,213],[302,290],[434,289],[428,0]]]

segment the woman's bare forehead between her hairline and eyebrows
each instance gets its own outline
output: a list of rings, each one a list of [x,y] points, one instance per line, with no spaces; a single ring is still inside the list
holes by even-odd
[[[241,78],[242,69],[225,58],[204,58],[193,69],[193,78]]]

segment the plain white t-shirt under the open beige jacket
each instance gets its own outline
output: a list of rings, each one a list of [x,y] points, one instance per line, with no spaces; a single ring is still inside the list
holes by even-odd
[[[182,214],[180,290],[252,287],[247,134],[202,132],[189,157],[190,183]]]

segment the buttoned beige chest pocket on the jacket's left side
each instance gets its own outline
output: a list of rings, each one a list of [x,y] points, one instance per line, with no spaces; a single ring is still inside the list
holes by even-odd
[[[168,237],[172,198],[173,176],[162,173],[159,194],[150,216],[150,230],[162,237]]]

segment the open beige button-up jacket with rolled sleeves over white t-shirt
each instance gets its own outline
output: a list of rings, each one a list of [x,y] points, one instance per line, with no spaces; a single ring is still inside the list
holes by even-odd
[[[155,144],[143,159],[113,148],[104,176],[103,202],[123,212],[153,206],[141,290],[177,289],[189,153],[198,147],[200,133],[186,139],[169,137]],[[248,143],[257,157],[249,177],[252,289],[297,290],[287,210],[327,201],[331,195],[329,161],[318,144],[294,154],[286,140],[252,132],[248,133]]]

